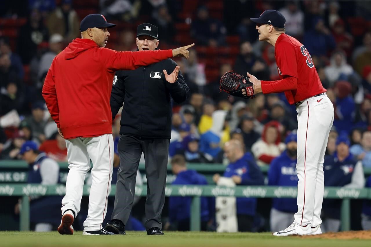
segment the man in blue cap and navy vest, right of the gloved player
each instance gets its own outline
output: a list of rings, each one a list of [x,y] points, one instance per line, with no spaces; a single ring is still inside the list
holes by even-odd
[[[362,162],[357,161],[349,152],[350,141],[348,136],[340,135],[336,139],[336,152],[325,157],[324,177],[325,186],[343,188],[363,188],[365,177]],[[340,227],[341,201],[324,199],[321,217],[323,232],[337,232]]]

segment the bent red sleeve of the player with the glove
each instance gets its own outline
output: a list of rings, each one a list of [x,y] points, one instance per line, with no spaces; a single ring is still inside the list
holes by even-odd
[[[281,79],[275,81],[262,80],[262,91],[264,94],[295,90],[298,87],[295,46],[290,42],[282,43],[279,47],[276,47],[275,55]]]

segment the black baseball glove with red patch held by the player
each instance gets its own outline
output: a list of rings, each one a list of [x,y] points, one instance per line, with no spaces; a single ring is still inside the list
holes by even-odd
[[[224,73],[220,78],[220,92],[224,91],[240,98],[255,98],[254,85],[249,78],[236,74],[232,71]],[[246,95],[242,94],[242,89],[246,90]]]

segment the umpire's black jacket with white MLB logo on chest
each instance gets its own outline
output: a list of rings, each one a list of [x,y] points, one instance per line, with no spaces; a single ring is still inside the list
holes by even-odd
[[[121,135],[139,139],[171,138],[171,98],[181,103],[190,89],[179,71],[178,80],[169,83],[162,70],[172,73],[177,64],[162,60],[135,70],[116,72],[111,93],[112,118],[124,103],[121,113]]]

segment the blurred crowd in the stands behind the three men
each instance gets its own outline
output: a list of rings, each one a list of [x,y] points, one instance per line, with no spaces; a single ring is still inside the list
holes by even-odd
[[[173,105],[170,158],[181,155],[187,163],[237,164],[238,160],[232,157],[235,154],[229,154],[227,149],[232,144],[237,149],[240,146],[234,142],[227,147],[224,144],[238,140],[242,154],[251,152],[251,155],[239,157],[249,160],[247,163],[252,160],[259,166],[276,164],[275,158],[285,154],[288,159],[295,160],[295,150],[286,151],[292,139],[286,139],[295,134],[298,126],[296,110],[288,105],[283,93],[260,94],[255,99],[243,100],[219,92],[220,76],[229,70],[241,75],[249,72],[261,80],[279,78],[274,47],[257,41],[255,24],[249,19],[259,16],[265,9],[278,9],[286,18],[286,33],[301,41],[311,54],[327,96],[334,104],[335,121],[326,155],[336,158],[331,162],[338,162],[339,153],[345,156],[339,158],[341,162],[351,155],[355,162],[361,161],[358,170],[362,166],[371,168],[369,3],[324,0],[1,1],[0,159],[22,159],[19,154],[22,144],[32,140],[49,157],[66,161],[65,142],[58,135],[41,96],[43,81],[53,58],[72,39],[80,37],[81,19],[90,13],[102,13],[109,22],[117,23],[115,28],[109,29],[111,36],[107,47],[111,49],[135,51],[135,30],[144,22],[158,26],[160,49],[196,43],[190,51],[190,59],[176,60],[191,96],[182,105]],[[113,123],[116,139],[120,118],[116,116]],[[176,160],[182,163],[181,158]],[[355,164],[347,173],[344,171],[344,175],[349,172],[352,175]],[[285,168],[284,175],[296,175],[292,169]],[[244,172],[231,174],[226,171],[224,176],[237,174],[241,177]],[[214,182],[218,181],[216,176]],[[250,180],[234,178],[234,181],[246,184],[243,181]],[[254,183],[262,182],[247,182]],[[345,184],[334,181],[329,185]],[[255,205],[256,202],[251,203]],[[371,206],[368,207],[367,217],[370,218]],[[251,208],[255,210],[255,206]],[[253,218],[245,220],[250,222]]]

